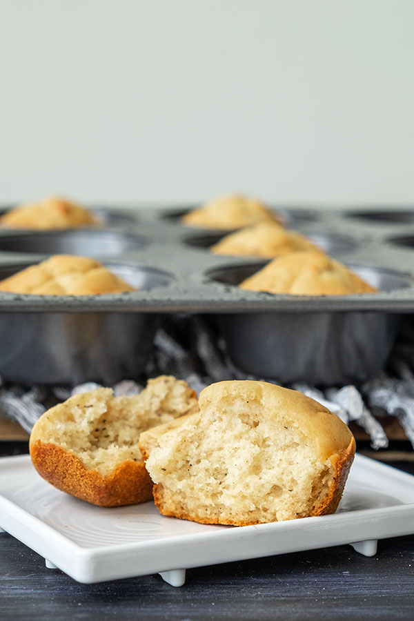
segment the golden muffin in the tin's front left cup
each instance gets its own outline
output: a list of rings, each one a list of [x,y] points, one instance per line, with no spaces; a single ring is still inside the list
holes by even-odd
[[[98,295],[135,291],[95,259],[54,255],[0,282],[0,291],[32,295]]]

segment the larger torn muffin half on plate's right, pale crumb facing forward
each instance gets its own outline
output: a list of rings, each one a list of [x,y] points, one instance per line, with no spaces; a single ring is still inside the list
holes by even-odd
[[[160,513],[244,526],[335,512],[355,454],[335,414],[249,380],[211,384],[199,408],[141,434]]]

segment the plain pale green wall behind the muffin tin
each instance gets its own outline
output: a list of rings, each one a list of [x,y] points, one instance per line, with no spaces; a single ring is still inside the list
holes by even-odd
[[[413,0],[0,8],[0,201],[414,202]]]

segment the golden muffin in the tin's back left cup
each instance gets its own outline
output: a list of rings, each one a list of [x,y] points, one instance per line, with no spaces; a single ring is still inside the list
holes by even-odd
[[[59,197],[19,205],[0,217],[1,226],[37,230],[97,224],[100,224],[100,220],[86,208]]]

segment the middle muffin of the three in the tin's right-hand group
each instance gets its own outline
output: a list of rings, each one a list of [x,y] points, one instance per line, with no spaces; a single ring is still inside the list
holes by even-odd
[[[246,255],[250,257],[278,257],[299,250],[319,250],[315,244],[297,231],[286,230],[281,224],[264,221],[230,233],[211,246],[216,255]]]

